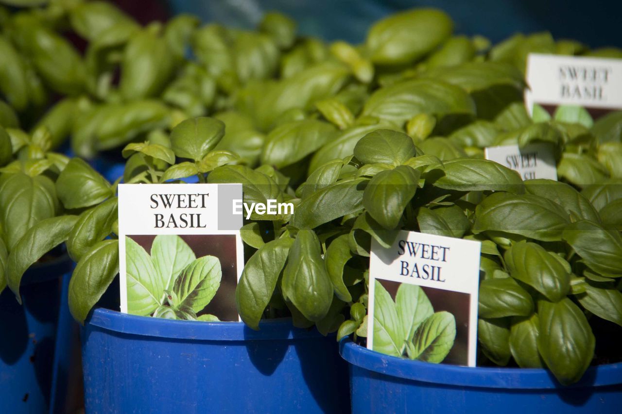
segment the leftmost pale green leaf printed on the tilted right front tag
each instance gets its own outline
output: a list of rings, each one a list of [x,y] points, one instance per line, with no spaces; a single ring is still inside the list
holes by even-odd
[[[401,357],[404,333],[397,306],[383,285],[374,281],[374,351]]]

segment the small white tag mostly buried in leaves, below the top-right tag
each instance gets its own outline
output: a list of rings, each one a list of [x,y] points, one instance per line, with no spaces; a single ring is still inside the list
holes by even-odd
[[[557,181],[553,148],[546,142],[536,142],[522,148],[518,144],[486,147],[484,157],[518,172],[523,180],[548,178]]]

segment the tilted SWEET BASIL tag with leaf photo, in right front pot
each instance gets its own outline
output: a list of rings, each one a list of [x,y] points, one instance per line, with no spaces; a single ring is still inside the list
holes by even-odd
[[[400,231],[371,240],[367,347],[417,361],[475,366],[481,243]]]

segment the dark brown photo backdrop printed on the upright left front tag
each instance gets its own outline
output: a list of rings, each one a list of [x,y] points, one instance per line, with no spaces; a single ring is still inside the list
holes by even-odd
[[[140,244],[148,253],[156,238],[149,236],[128,236]],[[180,234],[195,255],[202,257],[212,255],[218,257],[223,270],[223,277],[215,297],[197,313],[197,316],[211,313],[221,321],[238,321],[238,310],[235,305],[235,288],[238,285],[238,265],[236,258],[236,242],[233,234]]]

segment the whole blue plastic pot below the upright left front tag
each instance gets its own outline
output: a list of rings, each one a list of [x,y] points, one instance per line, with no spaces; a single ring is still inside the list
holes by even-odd
[[[260,328],[98,308],[81,331],[86,412],[349,412],[335,336]]]

